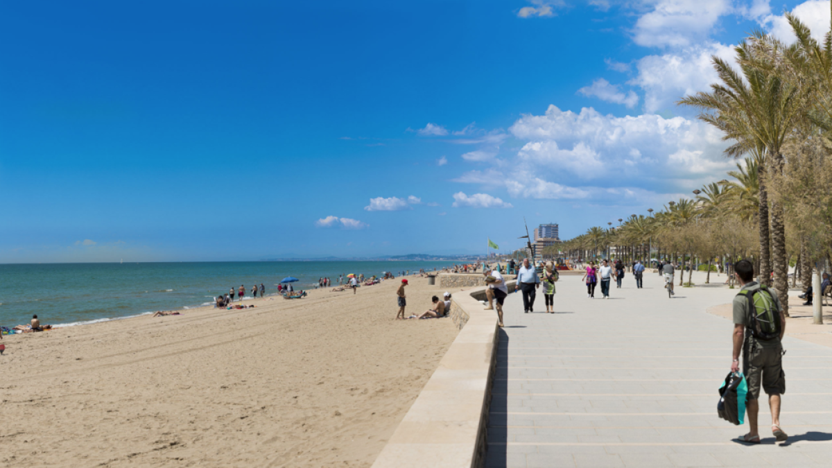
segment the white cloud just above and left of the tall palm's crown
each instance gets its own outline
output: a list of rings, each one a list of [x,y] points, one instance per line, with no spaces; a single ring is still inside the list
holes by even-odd
[[[718,77],[711,57],[716,55],[733,62],[733,46],[718,42],[683,47],[662,55],[648,55],[636,62],[638,75],[630,82],[644,90],[644,110],[656,112],[676,108],[676,101],[686,95],[708,91]]]

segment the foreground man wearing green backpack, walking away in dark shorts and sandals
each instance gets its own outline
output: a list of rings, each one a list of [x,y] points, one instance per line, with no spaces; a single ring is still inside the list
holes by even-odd
[[[734,264],[734,274],[740,284],[740,293],[734,297],[734,348],[731,372],[742,370],[748,381],[747,403],[749,432],[740,441],[760,443],[757,430],[757,412],[760,411],[760,385],[769,396],[771,433],[777,441],[789,436],[780,429],[780,395],[785,393],[783,372],[783,345],[785,316],[780,307],[777,292],[754,280],[754,265],[747,260]]]

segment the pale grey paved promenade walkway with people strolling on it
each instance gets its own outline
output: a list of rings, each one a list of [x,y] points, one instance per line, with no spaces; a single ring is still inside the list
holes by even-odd
[[[554,315],[541,313],[541,295],[533,314],[509,296],[487,467],[832,465],[832,349],[785,338],[790,440],[775,445],[761,399],[762,444],[745,446],[732,440],[748,422],[716,415],[733,325],[706,312],[736,290],[677,286],[668,299],[662,285],[646,274],[636,289],[628,274],[611,299],[598,287],[590,300],[580,276],[562,276]]]

